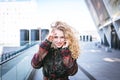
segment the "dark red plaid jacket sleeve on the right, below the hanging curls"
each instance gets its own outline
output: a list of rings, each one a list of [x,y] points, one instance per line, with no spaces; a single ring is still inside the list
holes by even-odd
[[[71,51],[69,50],[69,48],[64,48],[62,50],[62,56],[63,56],[63,63],[67,69],[68,76],[75,75],[78,71],[78,64],[76,62],[76,59],[72,58]]]

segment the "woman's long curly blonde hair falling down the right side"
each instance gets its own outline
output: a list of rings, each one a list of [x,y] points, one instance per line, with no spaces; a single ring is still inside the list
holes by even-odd
[[[80,46],[78,38],[75,35],[74,29],[65,22],[57,21],[54,25],[51,25],[52,29],[59,29],[63,31],[65,38],[69,40],[69,49],[71,51],[72,58],[77,59],[80,54]]]

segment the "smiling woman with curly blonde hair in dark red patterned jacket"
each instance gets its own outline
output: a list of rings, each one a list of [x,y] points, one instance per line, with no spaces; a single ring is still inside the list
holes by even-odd
[[[78,71],[79,43],[71,27],[57,21],[32,58],[34,68],[43,68],[43,80],[69,80]]]

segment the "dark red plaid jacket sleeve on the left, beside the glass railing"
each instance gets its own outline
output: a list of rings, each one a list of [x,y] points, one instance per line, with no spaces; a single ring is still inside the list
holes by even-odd
[[[51,42],[47,39],[40,44],[38,52],[34,54],[31,60],[33,68],[38,69],[42,67],[43,59],[47,55],[50,46]]]

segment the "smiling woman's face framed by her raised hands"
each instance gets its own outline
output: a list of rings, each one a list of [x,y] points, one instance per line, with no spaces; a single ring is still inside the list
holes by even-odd
[[[54,39],[53,43],[57,48],[60,48],[64,45],[65,43],[65,37],[64,33],[61,30],[55,29],[54,30]]]

